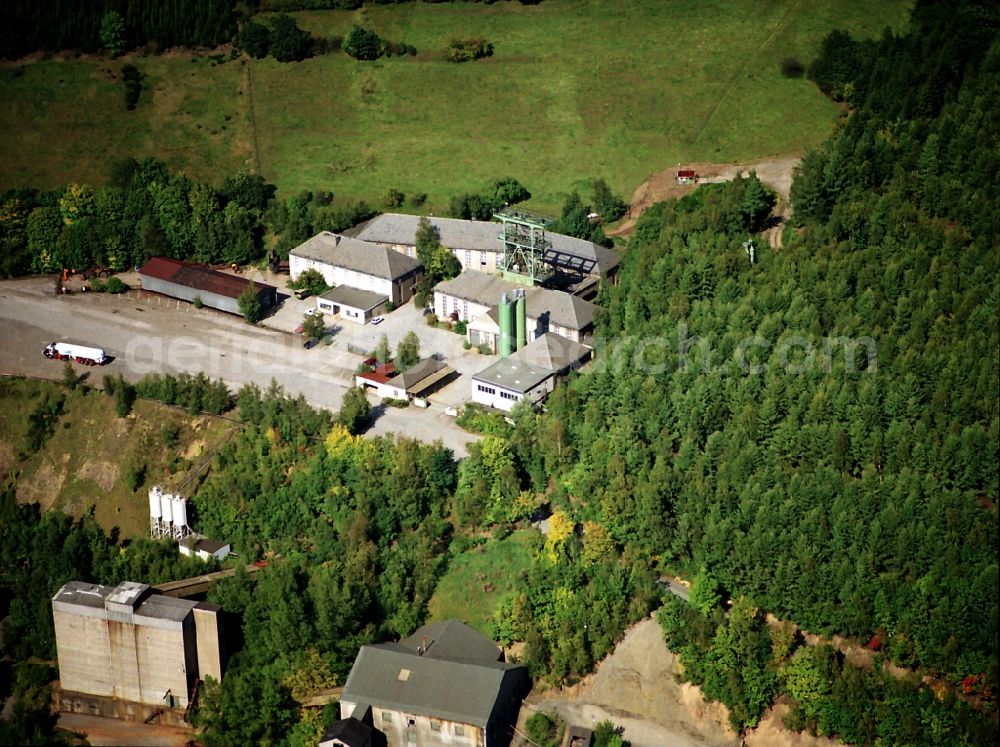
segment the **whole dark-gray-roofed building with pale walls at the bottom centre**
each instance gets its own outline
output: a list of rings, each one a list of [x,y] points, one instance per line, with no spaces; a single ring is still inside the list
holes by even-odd
[[[527,694],[527,670],[458,622],[430,623],[398,643],[362,646],[340,697],[341,715],[371,709],[398,745],[506,745]]]

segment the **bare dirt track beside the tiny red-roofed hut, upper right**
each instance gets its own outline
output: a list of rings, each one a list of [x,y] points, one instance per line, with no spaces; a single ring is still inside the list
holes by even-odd
[[[748,176],[751,171],[757,173],[757,178],[764,184],[778,193],[780,200],[776,208],[776,214],[787,218],[790,214],[788,210],[788,196],[792,188],[792,176],[795,167],[799,165],[801,157],[797,155],[773,156],[771,158],[760,158],[756,161],[745,161],[742,163],[684,163],[679,166],[672,166],[664,169],[639,185],[632,194],[628,213],[625,219],[613,231],[608,231],[609,236],[628,236],[635,228],[635,222],[639,216],[645,212],[646,208],[664,200],[673,200],[691,194],[700,184],[718,184],[735,179],[737,174]],[[698,181],[692,184],[678,184],[678,169],[692,170],[698,174]],[[774,246],[774,240],[771,242]]]

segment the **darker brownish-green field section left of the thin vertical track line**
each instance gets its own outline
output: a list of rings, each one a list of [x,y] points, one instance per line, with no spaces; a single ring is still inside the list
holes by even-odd
[[[212,65],[183,55],[127,61],[143,76],[139,105],[131,112],[125,110],[123,62],[0,67],[0,190],[102,183],[108,165],[127,156],[154,155],[212,183],[250,163],[239,60]]]

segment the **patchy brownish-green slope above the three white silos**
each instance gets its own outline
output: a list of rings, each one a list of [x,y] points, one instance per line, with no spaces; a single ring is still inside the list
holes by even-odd
[[[28,416],[42,391],[64,390],[58,384],[0,379],[0,479],[16,472],[19,501],[73,516],[92,508],[105,531],[118,527],[123,537],[148,533],[149,486],[178,486],[234,427],[143,400],[135,403],[132,415],[119,418],[112,397],[77,389],[65,392],[63,414],[51,438],[37,453],[22,455]],[[179,427],[173,448],[161,437],[168,423]],[[132,463],[146,467],[137,491],[126,485],[124,476]]]

